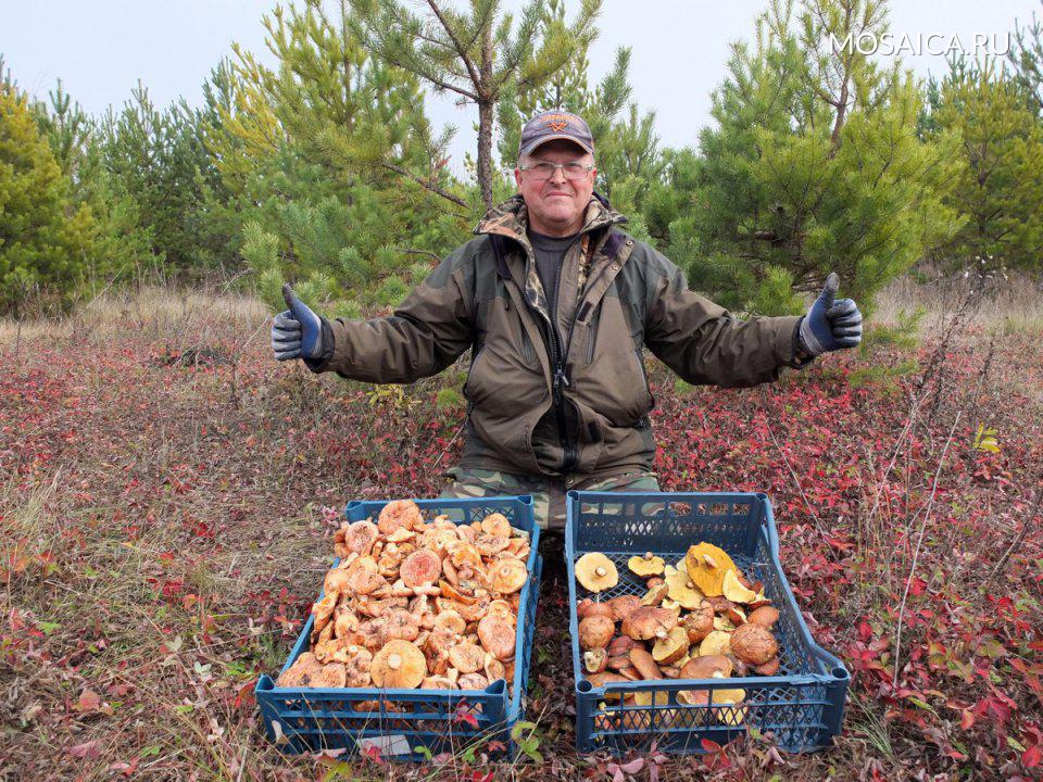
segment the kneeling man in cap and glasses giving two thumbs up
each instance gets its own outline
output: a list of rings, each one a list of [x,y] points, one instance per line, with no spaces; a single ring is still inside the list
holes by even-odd
[[[518,194],[491,210],[390,317],[330,323],[284,288],[279,361],[369,382],[413,382],[473,348],[467,432],[443,496],[532,494],[564,526],[565,492],[658,491],[648,348],[691,383],[747,387],[853,348],[862,314],[835,274],[802,317],[739,320],[619,230],[593,192],[594,139],[562,111],[522,131]]]

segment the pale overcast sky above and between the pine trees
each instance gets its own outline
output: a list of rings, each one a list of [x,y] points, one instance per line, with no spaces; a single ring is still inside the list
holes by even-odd
[[[522,7],[505,0],[508,9]],[[565,0],[569,16],[578,0]],[[200,100],[200,85],[211,67],[230,53],[233,41],[267,53],[261,17],[273,0],[0,0],[0,53],[18,84],[46,96],[61,78],[74,100],[101,113],[126,100],[138,79],[156,103],[184,96]],[[695,143],[711,122],[711,91],[726,74],[730,41],[750,39],[766,0],[604,0],[601,36],[590,51],[590,80],[611,67],[620,46],[632,46],[630,83],[633,99],[656,113],[656,130],[665,146]],[[908,35],[915,45],[942,49],[953,36],[970,48],[975,35],[1006,47],[1015,18],[1028,22],[1043,11],[1040,0],[897,0],[891,3],[891,31]],[[928,35],[935,35],[930,41]],[[267,61],[272,58],[268,55]],[[917,74],[940,74],[942,55],[903,55]],[[431,97],[428,112],[436,125],[452,124],[453,168],[475,147],[473,106]]]

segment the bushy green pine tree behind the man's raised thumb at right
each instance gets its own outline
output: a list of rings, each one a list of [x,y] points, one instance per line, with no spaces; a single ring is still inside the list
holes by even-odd
[[[916,137],[921,98],[897,63],[829,45],[885,30],[879,0],[809,0],[795,24],[792,0],[774,0],[753,49],[732,46],[718,127],[700,136],[698,187],[670,227],[693,287],[739,311],[793,313],[837,270],[868,308],[955,232],[942,201],[955,138]]]

